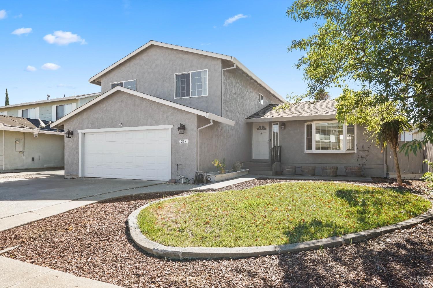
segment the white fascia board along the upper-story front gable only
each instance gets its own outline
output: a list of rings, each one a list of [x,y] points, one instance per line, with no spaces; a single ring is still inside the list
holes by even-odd
[[[188,47],[182,47],[182,46],[178,46],[178,45],[173,45],[173,44],[168,44],[168,43],[162,43],[162,42],[151,40],[151,41],[147,42],[146,44],[144,44],[143,46],[141,46],[138,49],[136,49],[135,51],[132,51],[131,53],[129,53],[128,55],[126,55],[125,57],[123,57],[122,59],[120,59],[119,61],[117,61],[116,63],[108,66],[107,68],[105,68],[104,70],[102,70],[100,73],[97,73],[95,76],[91,77],[89,79],[89,83],[100,85],[100,84],[98,84],[98,79],[103,74],[105,74],[108,71],[112,70],[114,67],[122,64],[123,62],[125,62],[126,60],[128,60],[129,58],[131,58],[132,56],[140,53],[141,51],[143,51],[144,49],[146,49],[150,45],[156,45],[156,46],[161,46],[161,47],[167,47],[167,48],[177,49],[177,50],[181,50],[181,51],[187,51],[187,52],[202,54],[202,55],[206,55],[206,56],[210,56],[210,57],[216,57],[216,58],[221,58],[221,59],[225,59],[225,60],[229,60],[229,61],[231,61],[232,58],[233,58],[231,56],[227,56],[227,55],[223,55],[223,54],[218,54],[218,53],[213,53],[213,52],[208,52],[208,51],[203,51],[203,50],[198,50],[198,49],[193,49],[193,48],[188,48]]]

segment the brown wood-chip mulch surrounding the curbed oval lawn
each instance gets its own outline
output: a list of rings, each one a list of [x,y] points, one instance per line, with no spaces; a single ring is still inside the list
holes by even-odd
[[[256,179],[221,190],[283,181]],[[392,182],[374,179],[378,187]],[[406,183],[425,196],[421,181]],[[433,222],[325,250],[174,261],[142,252],[126,226],[132,211],[162,196],[107,200],[0,232],[0,250],[23,245],[2,256],[124,287],[433,287]]]

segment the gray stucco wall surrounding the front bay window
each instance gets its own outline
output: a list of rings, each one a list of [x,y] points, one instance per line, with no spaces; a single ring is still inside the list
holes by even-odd
[[[335,119],[333,119],[335,120]],[[320,121],[320,120],[315,120]],[[344,166],[357,166],[358,153],[305,153],[304,152],[304,125],[305,120],[284,121],[286,128],[281,130],[281,122],[279,129],[279,144],[281,145],[281,164],[296,165],[297,173],[301,173],[302,165],[315,165],[316,174],[321,175],[322,166],[338,166],[338,174],[345,175]],[[368,148],[370,142],[363,135],[364,128],[360,125],[356,127],[356,142],[358,148]],[[365,175],[384,177],[384,155],[381,149],[372,145],[365,166]]]

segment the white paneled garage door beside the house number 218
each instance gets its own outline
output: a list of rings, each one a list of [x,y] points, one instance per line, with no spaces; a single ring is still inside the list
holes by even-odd
[[[84,177],[169,180],[170,131],[84,133]]]

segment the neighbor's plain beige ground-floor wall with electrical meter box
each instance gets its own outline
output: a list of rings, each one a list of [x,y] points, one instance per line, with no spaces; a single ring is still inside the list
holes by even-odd
[[[63,167],[65,136],[39,133],[34,137],[33,133],[15,131],[4,133],[5,170]],[[24,140],[23,153],[15,151],[15,139]]]

